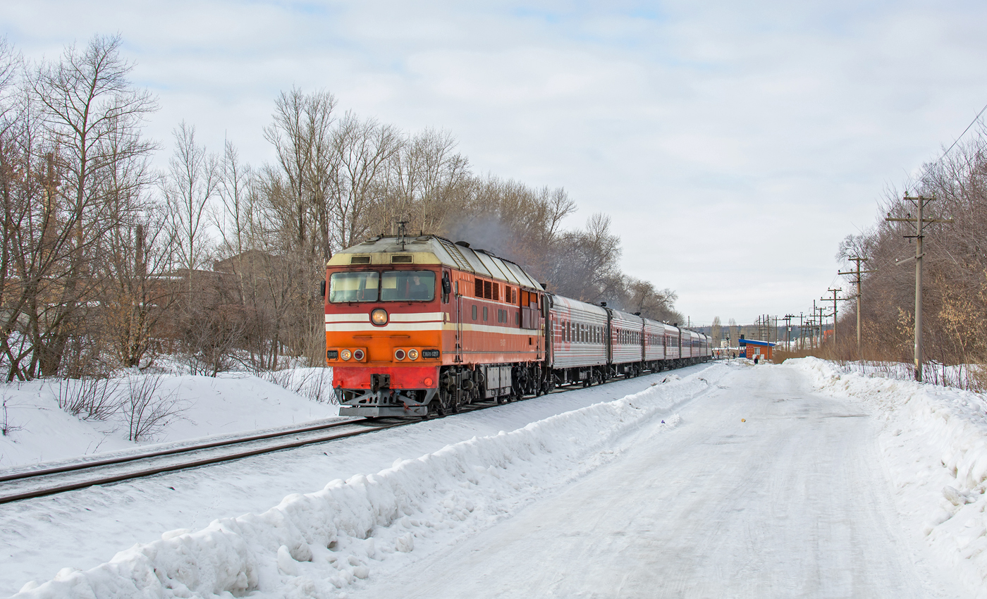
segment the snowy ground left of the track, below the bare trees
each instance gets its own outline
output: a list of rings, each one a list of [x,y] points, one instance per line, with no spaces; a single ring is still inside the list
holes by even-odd
[[[329,403],[331,391],[316,399],[320,388],[330,390],[332,369],[294,368],[270,373],[265,379],[246,373],[222,373],[216,378],[190,375],[137,375],[111,379],[111,402],[127,395],[133,380],[154,385],[155,400],[171,415],[152,426],[137,441],[128,440],[126,414],[116,409],[106,418],[81,419],[58,407],[59,393],[69,395],[78,381],[37,380],[0,385],[0,472],[15,466],[56,462],[96,453],[133,449],[151,443],[253,431],[334,417],[339,407]],[[97,382],[102,391],[107,382]],[[69,386],[63,390],[61,385]]]

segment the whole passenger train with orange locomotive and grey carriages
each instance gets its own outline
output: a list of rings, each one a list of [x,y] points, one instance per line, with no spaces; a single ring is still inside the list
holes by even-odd
[[[712,355],[701,333],[554,295],[516,263],[434,235],[343,250],[323,295],[342,415],[446,414]]]

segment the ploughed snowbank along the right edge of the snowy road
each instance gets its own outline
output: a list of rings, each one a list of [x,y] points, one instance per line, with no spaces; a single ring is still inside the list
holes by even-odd
[[[882,414],[878,440],[898,505],[914,531],[987,596],[987,401],[983,395],[787,360],[820,391]]]

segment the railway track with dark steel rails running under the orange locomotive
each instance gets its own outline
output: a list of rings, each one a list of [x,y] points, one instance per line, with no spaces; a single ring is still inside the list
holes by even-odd
[[[560,387],[552,391],[552,394],[566,393],[582,388],[581,385]],[[498,406],[495,401],[471,404],[464,406],[458,413],[476,412],[495,406]],[[397,417],[353,418],[147,453],[15,472],[0,476],[0,504],[231,462],[275,451],[295,449],[387,428],[405,426],[419,421],[418,418],[400,419]]]

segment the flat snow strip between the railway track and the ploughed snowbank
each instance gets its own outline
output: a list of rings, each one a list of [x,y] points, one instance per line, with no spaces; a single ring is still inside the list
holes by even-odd
[[[703,368],[684,368],[667,376],[675,379]],[[399,458],[417,458],[474,436],[496,435],[554,414],[618,400],[664,379],[665,375],[651,375],[615,381],[290,452],[0,505],[0,597],[32,579],[49,580],[63,567],[89,569],[108,562],[121,549],[159,538],[165,531],[199,530],[218,518],[262,513],[288,493],[378,473]],[[262,389],[261,397],[277,392]]]

